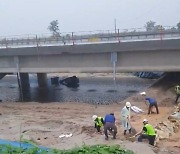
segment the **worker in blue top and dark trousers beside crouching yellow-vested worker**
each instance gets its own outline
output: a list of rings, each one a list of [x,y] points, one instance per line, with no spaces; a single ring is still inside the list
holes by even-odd
[[[113,139],[116,139],[117,127],[115,125],[116,118],[114,113],[107,114],[104,118],[104,134],[105,140],[108,140],[108,131],[113,134]]]

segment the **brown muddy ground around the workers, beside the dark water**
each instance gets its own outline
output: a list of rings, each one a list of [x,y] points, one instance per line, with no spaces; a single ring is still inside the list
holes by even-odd
[[[163,81],[163,80],[162,80]],[[8,140],[31,140],[37,144],[68,149],[76,145],[85,144],[121,144],[141,154],[142,149],[146,154],[154,153],[148,144],[133,144],[123,136],[120,111],[126,101],[140,107],[145,112],[136,114],[132,112],[131,123],[140,131],[142,120],[147,118],[149,123],[156,126],[167,121],[168,116],[174,111],[174,85],[161,86],[155,84],[146,93],[157,99],[160,114],[147,115],[147,106],[144,97],[136,94],[132,97],[112,105],[90,105],[83,103],[0,103],[0,138]],[[167,88],[168,87],[168,88]],[[116,140],[105,141],[104,135],[96,133],[93,128],[92,115],[104,117],[105,114],[114,112],[117,119],[118,134]],[[59,138],[61,134],[72,133],[69,138]],[[160,140],[155,151],[158,153],[178,153],[180,150],[180,131],[172,134],[170,138]]]

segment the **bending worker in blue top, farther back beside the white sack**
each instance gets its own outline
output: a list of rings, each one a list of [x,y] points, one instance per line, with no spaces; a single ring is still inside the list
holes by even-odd
[[[142,96],[146,96],[146,92],[142,92],[140,93]],[[157,105],[157,101],[155,98],[152,97],[145,97],[145,103],[147,105],[147,102],[149,103],[149,109],[148,109],[148,114],[152,113],[152,108],[153,106],[156,108],[156,112],[157,114],[159,114],[159,109],[158,109],[158,105]]]

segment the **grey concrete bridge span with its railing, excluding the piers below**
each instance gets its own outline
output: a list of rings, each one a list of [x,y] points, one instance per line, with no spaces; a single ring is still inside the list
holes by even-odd
[[[0,40],[1,73],[180,71],[180,31]]]

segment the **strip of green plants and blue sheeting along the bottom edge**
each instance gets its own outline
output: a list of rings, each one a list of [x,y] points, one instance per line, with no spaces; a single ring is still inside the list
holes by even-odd
[[[71,150],[49,149],[42,150],[38,147],[23,149],[10,145],[0,145],[1,154],[134,154],[130,150],[125,150],[119,145],[94,145],[77,147]]]

